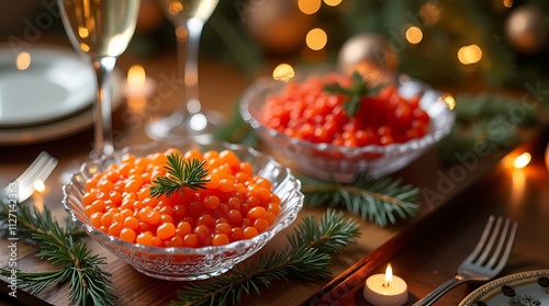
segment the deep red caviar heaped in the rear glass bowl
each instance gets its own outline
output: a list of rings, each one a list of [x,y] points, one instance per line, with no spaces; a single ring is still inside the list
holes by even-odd
[[[386,86],[362,98],[358,112],[348,116],[343,103],[349,97],[323,90],[334,82],[348,88],[351,79],[330,73],[289,82],[267,98],[259,121],[289,137],[345,147],[405,143],[426,135],[430,120],[419,107],[419,97],[404,99],[393,84]]]

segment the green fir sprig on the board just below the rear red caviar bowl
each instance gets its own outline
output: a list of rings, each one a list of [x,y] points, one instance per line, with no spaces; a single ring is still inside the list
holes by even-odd
[[[357,175],[351,183],[302,179],[302,192],[309,206],[343,206],[349,213],[365,220],[384,227],[395,224],[396,216],[402,219],[415,216],[419,209],[419,190],[411,184],[403,185],[401,179],[389,177],[372,179],[368,173]]]

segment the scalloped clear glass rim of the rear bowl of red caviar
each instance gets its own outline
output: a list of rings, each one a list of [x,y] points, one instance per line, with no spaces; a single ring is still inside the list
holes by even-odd
[[[283,86],[284,83],[280,81],[274,81],[271,78],[260,78],[256,80],[251,86],[249,86],[245,90],[239,104],[239,112],[243,120],[247,124],[249,124],[249,126],[253,129],[255,129],[259,135],[264,137],[270,137],[280,143],[289,144],[291,148],[282,148],[283,155],[285,155],[289,158],[292,158],[292,154],[296,157],[302,151],[305,152],[317,151],[328,155],[343,154],[344,158],[346,159],[357,158],[365,154],[382,154],[383,162],[380,162],[376,159],[368,161],[362,160],[362,162],[368,163],[369,167],[374,168],[376,171],[372,172],[374,172],[374,174],[376,173],[378,174],[374,177],[394,172],[403,168],[405,165],[417,158],[419,154],[423,152],[425,149],[429,148],[430,146],[433,146],[434,144],[438,143],[440,139],[446,137],[451,132],[451,128],[456,121],[456,114],[451,112],[448,109],[447,104],[441,100],[442,92],[433,89],[430,86],[428,86],[423,81],[410,78],[406,75],[400,75],[396,78],[396,86],[401,94],[403,94],[404,97],[413,97],[414,94],[421,94],[422,98],[419,101],[419,105],[432,117],[429,129],[424,137],[411,139],[402,144],[391,144],[386,146],[369,145],[363,147],[340,147],[330,144],[315,144],[299,138],[288,137],[287,135],[276,129],[262,125],[257,118],[257,114],[260,111],[260,106],[254,105],[255,107],[257,107],[254,109],[251,106],[254,101],[255,103],[260,104],[258,99],[265,101],[265,99],[269,94],[273,93],[277,89],[280,89]],[[276,149],[280,150],[280,148]],[[406,156],[406,154],[414,156]],[[391,160],[391,163],[393,165],[388,167],[386,170],[383,170],[382,168],[385,166],[384,163],[386,159],[392,157],[396,158],[403,157],[403,159],[406,160],[395,160],[394,162],[397,162],[399,165],[394,165],[393,160]],[[322,158],[320,157],[313,157],[313,158],[322,160]],[[307,172],[306,170],[304,170],[304,167],[302,165],[296,165],[296,168],[305,173]],[[313,172],[316,171],[322,172],[324,169],[313,169],[313,170],[314,170]],[[334,171],[334,169],[326,169],[326,171],[328,172]]]

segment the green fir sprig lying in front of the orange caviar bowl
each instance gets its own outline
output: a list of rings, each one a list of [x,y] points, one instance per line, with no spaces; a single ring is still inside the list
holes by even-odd
[[[276,280],[326,277],[330,253],[356,243],[359,235],[358,224],[344,219],[344,213],[327,209],[318,223],[314,216],[306,216],[288,237],[290,247],[283,251],[261,254],[257,263],[243,262],[215,279],[190,283],[178,291],[179,299],[170,305],[237,305],[245,295],[260,294],[261,287],[269,287]]]

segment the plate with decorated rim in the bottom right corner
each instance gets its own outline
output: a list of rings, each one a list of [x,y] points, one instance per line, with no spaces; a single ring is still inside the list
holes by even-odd
[[[549,305],[549,270],[512,274],[469,294],[459,306]]]

